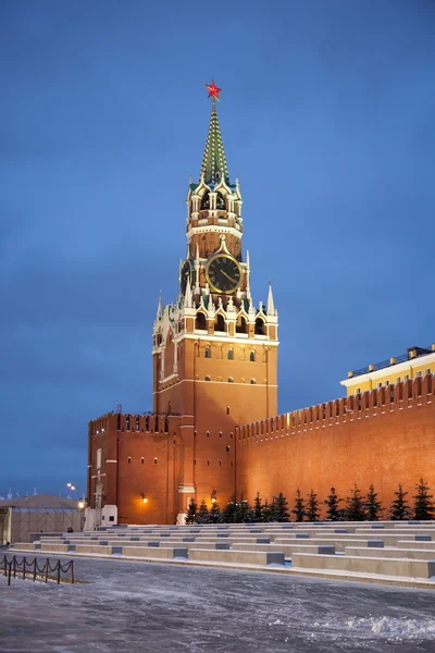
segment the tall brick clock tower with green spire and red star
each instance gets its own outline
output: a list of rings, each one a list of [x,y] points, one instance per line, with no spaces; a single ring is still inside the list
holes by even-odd
[[[277,311],[272,287],[254,305],[243,256],[241,193],[212,111],[198,182],[187,193],[187,252],[178,297],[153,328],[153,411],[179,416],[178,513],[190,498],[222,505],[237,492],[236,426],[277,414]],[[175,444],[175,440],[174,440]]]

